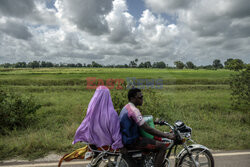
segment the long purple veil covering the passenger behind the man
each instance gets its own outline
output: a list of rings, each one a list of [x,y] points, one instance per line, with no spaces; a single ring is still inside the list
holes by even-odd
[[[111,145],[113,149],[122,148],[120,120],[114,109],[109,89],[99,86],[92,97],[86,117],[76,130],[76,142],[83,141],[97,147]]]

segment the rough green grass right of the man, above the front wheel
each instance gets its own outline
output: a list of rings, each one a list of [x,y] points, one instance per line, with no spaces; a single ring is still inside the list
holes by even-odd
[[[164,92],[166,118],[183,120],[193,138],[212,149],[250,148],[250,113],[233,111],[228,89]]]

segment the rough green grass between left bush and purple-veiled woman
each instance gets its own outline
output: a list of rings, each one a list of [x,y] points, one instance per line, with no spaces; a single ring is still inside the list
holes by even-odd
[[[28,159],[44,156],[49,152],[68,152],[79,145],[72,146],[77,126],[84,117],[84,110],[91,98],[91,93],[84,91],[26,92],[35,97],[42,108],[36,115],[38,122],[25,130],[13,131],[8,136],[0,137],[1,159],[21,156]],[[24,93],[22,89],[16,93]],[[70,98],[69,98],[70,97]],[[6,144],[8,143],[8,144]]]

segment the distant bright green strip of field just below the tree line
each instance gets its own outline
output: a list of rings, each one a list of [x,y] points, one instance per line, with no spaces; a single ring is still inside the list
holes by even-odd
[[[13,69],[0,72],[1,85],[86,85],[87,77],[97,79],[157,78],[164,84],[225,84],[229,70],[169,70],[117,68]]]

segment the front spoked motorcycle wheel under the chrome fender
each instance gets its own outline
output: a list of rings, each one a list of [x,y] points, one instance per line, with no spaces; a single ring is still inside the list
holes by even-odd
[[[197,167],[214,167],[214,158],[210,151],[196,148],[191,150],[192,157]],[[181,159],[178,167],[195,167],[195,164],[188,153],[185,153]]]

